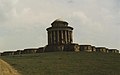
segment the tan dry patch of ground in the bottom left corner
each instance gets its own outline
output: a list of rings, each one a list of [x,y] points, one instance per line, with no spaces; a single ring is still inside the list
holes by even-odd
[[[0,75],[20,75],[7,62],[0,59]]]

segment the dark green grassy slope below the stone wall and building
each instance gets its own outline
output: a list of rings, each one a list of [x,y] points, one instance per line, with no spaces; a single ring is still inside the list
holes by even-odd
[[[50,52],[0,57],[22,75],[120,75],[120,54]]]

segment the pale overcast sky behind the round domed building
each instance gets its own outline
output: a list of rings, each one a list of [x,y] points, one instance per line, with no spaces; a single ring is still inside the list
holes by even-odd
[[[120,49],[120,0],[0,0],[0,52],[47,45],[56,19],[74,43]]]

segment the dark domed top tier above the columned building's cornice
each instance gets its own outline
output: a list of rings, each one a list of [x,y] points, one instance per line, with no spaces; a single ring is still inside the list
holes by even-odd
[[[66,26],[68,26],[68,23],[61,19],[56,19],[53,23],[51,23],[51,25],[53,27],[66,27]]]

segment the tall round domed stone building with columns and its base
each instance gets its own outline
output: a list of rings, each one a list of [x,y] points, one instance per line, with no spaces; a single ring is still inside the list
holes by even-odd
[[[79,45],[73,44],[73,28],[68,26],[66,21],[57,19],[51,25],[51,27],[46,29],[48,33],[48,45],[45,47],[46,52],[78,49]],[[77,46],[77,48],[74,46]]]

